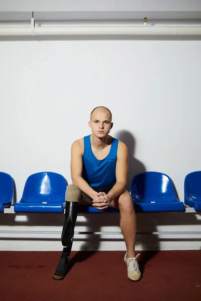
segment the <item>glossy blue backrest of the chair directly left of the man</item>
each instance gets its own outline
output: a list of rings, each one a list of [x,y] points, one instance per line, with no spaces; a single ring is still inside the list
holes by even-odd
[[[42,172],[29,176],[25,183],[23,191],[23,199],[34,201],[34,199],[57,200],[65,201],[66,191],[65,178],[57,173]]]

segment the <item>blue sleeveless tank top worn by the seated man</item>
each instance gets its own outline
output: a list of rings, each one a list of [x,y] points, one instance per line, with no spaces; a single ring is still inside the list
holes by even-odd
[[[90,135],[84,137],[82,178],[91,187],[115,185],[117,149],[118,139],[112,137],[110,153],[103,160],[97,160],[91,150]]]

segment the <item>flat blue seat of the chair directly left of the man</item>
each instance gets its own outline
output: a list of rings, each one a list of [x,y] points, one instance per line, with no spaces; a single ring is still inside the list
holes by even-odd
[[[63,213],[63,207],[65,203],[56,204],[43,204],[43,203],[16,203],[14,205],[14,211],[16,213],[22,212],[43,212],[43,213]]]

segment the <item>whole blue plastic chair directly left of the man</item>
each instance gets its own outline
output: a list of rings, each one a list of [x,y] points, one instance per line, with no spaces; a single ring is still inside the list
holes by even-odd
[[[22,199],[14,205],[14,211],[63,213],[66,186],[66,180],[59,174],[33,174],[27,179]]]

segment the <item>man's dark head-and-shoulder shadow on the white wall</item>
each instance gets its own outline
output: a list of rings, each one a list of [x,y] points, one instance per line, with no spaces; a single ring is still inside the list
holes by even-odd
[[[146,168],[142,162],[135,158],[136,140],[131,132],[128,130],[120,130],[115,134],[115,138],[124,142],[128,147],[129,171],[126,189],[130,191],[133,177],[139,173],[146,172]]]

